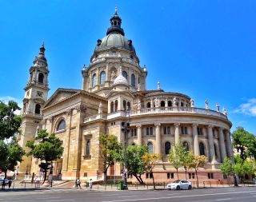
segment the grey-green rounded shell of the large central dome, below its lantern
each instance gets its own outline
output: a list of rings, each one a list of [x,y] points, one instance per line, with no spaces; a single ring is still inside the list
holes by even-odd
[[[102,38],[102,42],[99,42],[95,50],[102,50],[110,47],[116,47],[124,50],[129,50],[135,53],[134,46],[131,40],[125,38],[122,34],[111,33]]]

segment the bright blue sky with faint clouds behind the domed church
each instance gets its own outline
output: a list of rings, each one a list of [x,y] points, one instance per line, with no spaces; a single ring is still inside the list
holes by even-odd
[[[29,69],[45,40],[49,97],[82,88],[97,40],[114,7],[140,65],[147,89],[184,93],[196,107],[227,109],[233,123],[256,134],[256,1],[0,0],[0,100],[22,106]]]

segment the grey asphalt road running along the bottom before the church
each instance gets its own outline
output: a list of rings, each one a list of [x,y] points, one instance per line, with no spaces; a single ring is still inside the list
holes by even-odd
[[[0,202],[207,202],[256,201],[255,187],[201,188],[192,190],[88,191],[56,188],[52,190],[0,192]]]

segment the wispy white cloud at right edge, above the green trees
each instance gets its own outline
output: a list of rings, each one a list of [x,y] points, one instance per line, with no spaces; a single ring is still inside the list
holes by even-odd
[[[234,110],[234,113],[243,113],[249,116],[256,117],[256,98],[251,98],[245,103],[238,106],[238,109]]]

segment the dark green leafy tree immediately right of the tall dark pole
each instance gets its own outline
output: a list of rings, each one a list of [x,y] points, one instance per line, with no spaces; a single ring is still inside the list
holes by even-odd
[[[146,170],[142,156],[147,152],[148,147],[141,145],[130,145],[126,149],[126,167],[128,174],[135,176],[140,184],[144,184],[142,174],[144,174]]]

